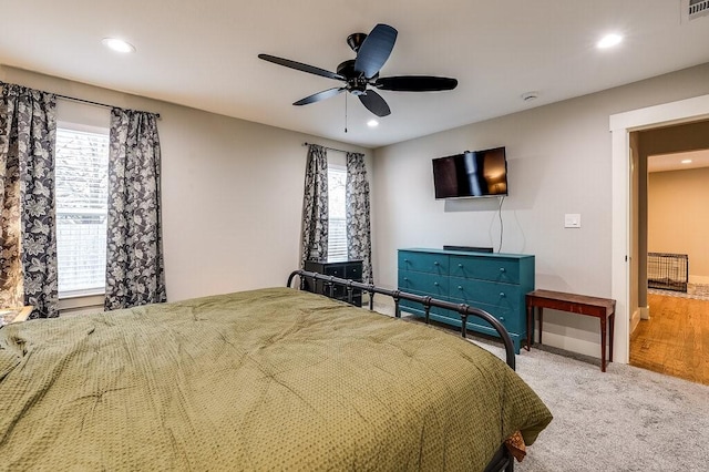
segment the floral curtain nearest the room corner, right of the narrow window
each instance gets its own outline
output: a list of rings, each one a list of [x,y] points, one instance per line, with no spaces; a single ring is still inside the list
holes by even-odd
[[[372,284],[372,240],[369,224],[369,182],[364,154],[347,153],[347,256],[362,260],[362,281]]]

